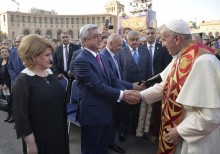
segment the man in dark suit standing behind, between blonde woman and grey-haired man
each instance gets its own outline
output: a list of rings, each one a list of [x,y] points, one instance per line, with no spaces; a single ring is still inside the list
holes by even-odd
[[[53,55],[53,73],[58,78],[65,76],[72,78],[69,71],[70,61],[73,52],[80,49],[78,45],[70,43],[70,37],[67,32],[62,32],[60,35],[62,45],[60,45]]]

